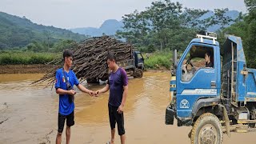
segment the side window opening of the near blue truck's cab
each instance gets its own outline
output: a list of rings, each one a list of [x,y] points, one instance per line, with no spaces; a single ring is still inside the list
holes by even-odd
[[[192,46],[182,61],[182,81],[190,81],[201,68],[214,68],[214,49],[206,46]]]

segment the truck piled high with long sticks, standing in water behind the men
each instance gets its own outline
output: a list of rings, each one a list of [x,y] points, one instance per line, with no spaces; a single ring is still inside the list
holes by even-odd
[[[106,81],[110,73],[106,57],[113,53],[117,58],[118,66],[126,70],[128,76],[142,78],[144,70],[144,58],[142,54],[134,50],[130,43],[119,41],[109,36],[95,37],[79,42],[70,48],[74,52],[72,70],[81,82]],[[55,71],[63,66],[62,58],[56,58],[53,62],[47,63],[54,68],[48,74],[34,83],[44,81],[48,84],[54,83]]]

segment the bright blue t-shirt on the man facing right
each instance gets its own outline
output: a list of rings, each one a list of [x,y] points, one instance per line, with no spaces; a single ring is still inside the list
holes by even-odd
[[[55,83],[55,89],[57,90],[58,88],[61,88],[63,90],[66,90],[66,80],[63,75],[66,74],[67,80],[70,82],[71,86],[78,86],[78,78],[75,76],[73,70],[69,70],[69,73],[66,73],[63,68],[58,69],[56,71],[56,83]],[[68,94],[59,94],[59,103],[58,103],[58,113],[62,115],[69,115],[74,111],[74,102],[69,102],[69,96]]]

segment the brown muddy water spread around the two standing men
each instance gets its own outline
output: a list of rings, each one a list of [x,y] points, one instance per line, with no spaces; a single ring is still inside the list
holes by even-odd
[[[0,74],[0,143],[54,143],[57,134],[58,94],[51,87],[30,86],[43,74]],[[165,125],[169,102],[169,72],[146,72],[143,78],[129,79],[125,106],[126,143],[186,144],[191,127]],[[98,90],[103,85],[87,85]],[[77,90],[78,91],[78,90]],[[90,97],[75,95],[75,125],[70,143],[104,144],[110,140],[107,110],[108,93]],[[255,133],[224,134],[224,144],[255,143]],[[62,143],[65,142],[65,131]],[[116,134],[115,143],[120,143]]]

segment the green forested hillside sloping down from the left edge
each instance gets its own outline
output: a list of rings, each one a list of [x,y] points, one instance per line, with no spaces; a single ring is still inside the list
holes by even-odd
[[[60,39],[81,41],[83,34],[54,26],[42,26],[23,17],[0,12],[0,50],[26,46],[31,42],[58,42]]]

